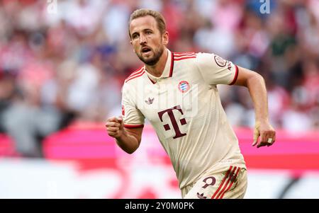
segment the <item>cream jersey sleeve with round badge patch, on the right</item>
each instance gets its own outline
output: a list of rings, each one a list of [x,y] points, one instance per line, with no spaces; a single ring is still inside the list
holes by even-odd
[[[198,53],[196,65],[209,85],[235,84],[238,67],[217,54]]]

